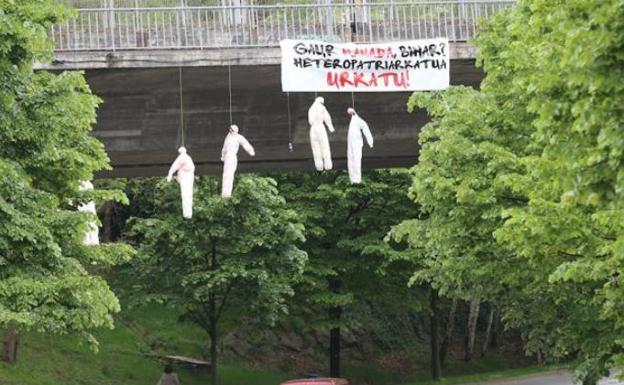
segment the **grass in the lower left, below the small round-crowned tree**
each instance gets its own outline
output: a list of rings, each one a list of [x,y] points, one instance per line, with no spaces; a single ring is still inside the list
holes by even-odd
[[[175,312],[162,307],[126,312],[115,330],[96,334],[94,354],[77,336],[22,336],[15,365],[0,363],[0,385],[153,385],[162,365],[144,354],[151,345],[168,354],[201,357],[205,333],[178,323]],[[177,370],[184,385],[205,385],[208,374]],[[276,385],[281,373],[225,362],[219,366],[222,385]]]

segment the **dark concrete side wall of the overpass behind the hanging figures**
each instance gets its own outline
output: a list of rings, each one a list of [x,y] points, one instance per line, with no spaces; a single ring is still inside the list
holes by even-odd
[[[92,91],[104,103],[94,135],[100,138],[114,171],[105,176],[165,175],[180,145],[178,67],[94,68],[86,70]],[[291,93],[290,134],[288,97],[281,91],[277,64],[233,65],[232,115],[256,148],[257,156],[241,153],[243,171],[313,170],[307,109],[312,93]],[[227,66],[183,67],[186,146],[198,173],[219,173],[220,150],[229,126]],[[478,87],[482,73],[473,59],[451,63],[451,82]],[[355,93],[356,110],[375,136],[375,147],[364,150],[363,166],[410,166],[417,161],[417,136],[427,117],[408,114],[409,92]],[[325,103],[337,132],[330,135],[337,168],[346,167],[346,134],[350,93],[326,93]],[[288,151],[289,136],[294,151]]]

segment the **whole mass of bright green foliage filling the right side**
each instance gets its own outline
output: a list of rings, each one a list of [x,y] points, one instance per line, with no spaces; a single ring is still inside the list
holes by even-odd
[[[395,231],[415,280],[503,307],[529,352],[577,358],[593,384],[623,362],[624,2],[519,1],[476,43],[480,92],[415,94],[433,117]]]

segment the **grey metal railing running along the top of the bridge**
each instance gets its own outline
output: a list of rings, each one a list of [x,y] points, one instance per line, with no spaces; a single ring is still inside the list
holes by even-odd
[[[128,1],[126,4],[131,4]],[[136,2],[139,4],[139,2]],[[58,51],[273,47],[282,39],[467,41],[514,0],[78,9],[50,31]]]

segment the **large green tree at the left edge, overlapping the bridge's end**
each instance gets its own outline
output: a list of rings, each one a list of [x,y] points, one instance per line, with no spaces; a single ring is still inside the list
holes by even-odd
[[[83,193],[80,182],[108,168],[89,135],[99,99],[81,73],[35,73],[51,58],[48,28],[68,16],[52,1],[0,0],[0,327],[9,360],[17,332],[89,333],[113,326],[119,303],[93,274],[131,256],[125,245],[84,246],[89,221],[76,211],[118,191]]]

